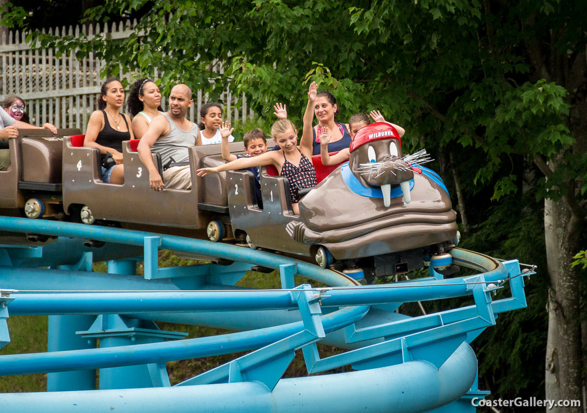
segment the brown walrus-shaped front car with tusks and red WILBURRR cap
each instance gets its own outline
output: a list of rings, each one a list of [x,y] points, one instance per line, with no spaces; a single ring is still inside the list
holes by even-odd
[[[404,157],[400,144],[389,123],[360,129],[349,162],[301,199],[299,217],[280,207],[271,210],[282,177],[262,182],[262,190],[271,188],[264,192],[264,211],[242,209],[244,198],[229,187],[233,229],[245,231],[255,246],[315,255],[322,266],[331,261],[326,255],[347,261],[343,268],[374,266],[377,275],[423,267],[427,256],[453,244],[456,213],[443,180],[412,163],[413,156]],[[313,163],[319,174],[319,157]]]

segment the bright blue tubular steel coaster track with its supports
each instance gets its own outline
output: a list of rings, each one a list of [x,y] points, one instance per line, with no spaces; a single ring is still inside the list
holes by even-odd
[[[49,315],[48,352],[0,355],[0,376],[48,373],[48,391],[0,394],[6,412],[474,412],[471,399],[488,392],[477,388],[469,343],[499,313],[526,306],[524,276],[533,273],[454,248],[453,263],[476,274],[444,279],[430,267],[429,277],[362,286],[281,254],[185,237],[14,217],[0,217],[0,230],[56,237],[0,245],[0,348],[10,343],[6,318]],[[225,265],[158,268],[158,249]],[[109,273],[93,273],[95,261],[108,261]],[[282,288],[235,287],[254,265],[278,270]],[[295,286],[294,275],[326,287]],[[502,288],[507,297],[494,300]],[[474,304],[396,312],[454,297]],[[155,321],[236,332],[185,338]],[[346,351],[321,358],[317,343]],[[282,378],[298,350],[309,374],[330,374]],[[170,383],[168,361],[240,351],[248,353]],[[355,371],[332,373],[348,365]]]

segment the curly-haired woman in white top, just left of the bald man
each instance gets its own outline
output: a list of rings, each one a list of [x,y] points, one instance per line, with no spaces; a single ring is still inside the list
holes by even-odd
[[[147,132],[151,120],[163,113],[161,93],[156,83],[149,78],[139,79],[133,83],[126,105],[133,116],[132,127],[135,139],[141,139]]]

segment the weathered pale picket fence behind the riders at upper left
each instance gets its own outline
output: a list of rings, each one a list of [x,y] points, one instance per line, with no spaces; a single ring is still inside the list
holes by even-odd
[[[111,38],[126,38],[136,26],[136,21],[120,22],[111,26],[99,24],[95,26],[69,26],[50,29],[55,35],[73,35],[80,33],[110,33]],[[26,112],[32,125],[53,123],[56,127],[77,127],[85,132],[89,115],[96,110],[95,100],[100,93],[100,85],[104,78],[101,75],[106,62],[96,59],[93,53],[88,58],[76,59],[75,51],[69,55],[56,57],[55,49],[41,49],[26,43],[26,33],[18,31],[8,33],[8,41],[0,45],[0,99],[7,95],[17,95],[26,103]],[[112,64],[112,62],[110,62]],[[220,65],[217,65],[220,67]],[[221,68],[219,69],[221,70]],[[158,70],[154,68],[157,78]],[[124,77],[129,81],[138,76],[127,73]],[[221,96],[227,102],[227,119],[244,122],[253,116],[247,110],[247,99],[241,96],[241,107],[235,105],[237,99],[226,89]],[[188,112],[192,122],[200,121],[200,107],[206,102],[205,95],[194,92],[194,105]],[[161,102],[166,110],[166,101]]]

